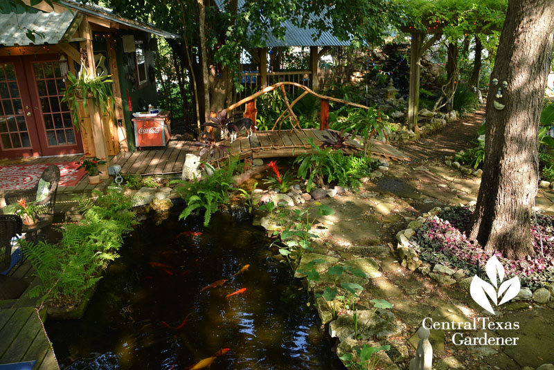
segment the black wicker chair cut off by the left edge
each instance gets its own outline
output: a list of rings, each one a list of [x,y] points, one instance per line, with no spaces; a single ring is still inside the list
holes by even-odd
[[[24,280],[4,275],[17,262],[12,261],[12,239],[21,234],[22,225],[19,216],[0,215],[0,299],[17,299],[28,286]]]

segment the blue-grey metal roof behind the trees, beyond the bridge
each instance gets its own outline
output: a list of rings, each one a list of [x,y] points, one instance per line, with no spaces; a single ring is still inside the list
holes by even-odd
[[[223,9],[225,0],[215,0],[215,3],[217,3],[218,8]],[[238,0],[238,8],[240,9],[242,6],[244,6],[244,0]],[[327,23],[329,20],[321,19],[321,21]],[[280,46],[350,46],[350,41],[341,41],[339,37],[334,36],[329,31],[321,33],[319,37],[314,39],[312,35],[317,35],[318,33],[315,28],[300,28],[293,24],[292,19],[281,22],[281,26],[285,28],[285,38],[281,40],[273,34],[267,33],[262,37],[262,40],[265,41],[265,46],[268,48]],[[253,33],[253,31],[249,30],[249,33]]]

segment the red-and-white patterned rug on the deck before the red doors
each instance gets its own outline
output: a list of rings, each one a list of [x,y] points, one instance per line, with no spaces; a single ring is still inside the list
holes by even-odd
[[[75,162],[39,163],[36,165],[12,165],[0,167],[0,190],[31,189],[38,183],[42,172],[49,165],[60,167],[59,186],[75,186],[87,174],[84,168],[77,169]]]

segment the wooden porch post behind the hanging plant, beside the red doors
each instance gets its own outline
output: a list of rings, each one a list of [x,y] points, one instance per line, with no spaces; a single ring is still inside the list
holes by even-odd
[[[96,74],[96,66],[94,64],[94,50],[92,48],[92,30],[89,24],[89,18],[85,17],[81,24],[82,27],[82,37],[84,41],[80,42],[82,49],[87,51],[87,63],[89,65],[89,72]],[[96,151],[96,156],[101,160],[105,160],[105,165],[100,165],[98,169],[100,170],[100,178],[106,179],[109,178],[108,175],[108,166],[109,166],[109,157],[105,141],[105,132],[104,124],[102,124],[102,115],[100,115],[99,107],[96,104],[93,104],[92,100],[87,102],[87,109],[91,115],[91,125],[92,125],[92,137],[94,142],[94,149]]]

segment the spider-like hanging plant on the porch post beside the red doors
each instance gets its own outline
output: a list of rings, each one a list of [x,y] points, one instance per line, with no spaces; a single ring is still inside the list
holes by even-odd
[[[102,57],[98,61],[98,65],[102,62]],[[79,102],[82,102],[84,111],[87,112],[87,100],[91,99],[93,104],[98,105],[102,111],[102,115],[106,112],[108,115],[113,115],[115,111],[114,94],[111,89],[107,87],[107,84],[113,82],[109,77],[111,75],[96,75],[96,69],[89,71],[89,68],[81,63],[81,70],[77,73],[77,76],[73,73],[67,73],[67,84],[64,90],[64,96],[62,102],[69,104],[69,108],[73,111],[73,125],[75,129],[80,128],[79,115],[77,114],[79,109]]]

